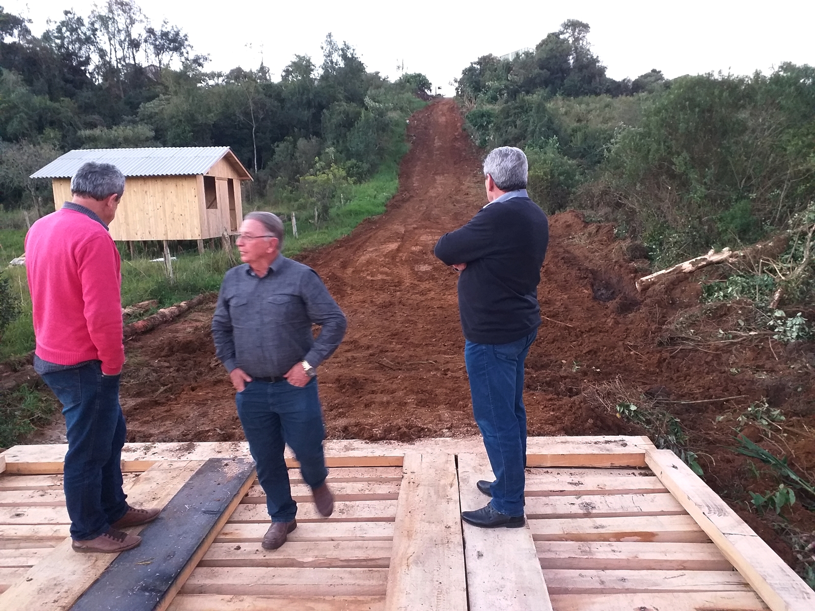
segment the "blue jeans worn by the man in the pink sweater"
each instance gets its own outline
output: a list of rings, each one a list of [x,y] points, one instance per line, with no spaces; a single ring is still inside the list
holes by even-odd
[[[121,490],[121,446],[125,416],[119,405],[119,376],[103,376],[99,361],[42,375],[63,405],[68,429],[65,505],[71,537],[99,537],[127,512]]]

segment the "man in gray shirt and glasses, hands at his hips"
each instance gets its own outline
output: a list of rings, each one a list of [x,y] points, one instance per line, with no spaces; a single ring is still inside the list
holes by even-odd
[[[323,516],[333,512],[315,369],[346,332],[346,317],[315,270],[280,254],[283,237],[274,214],[245,216],[237,240],[245,265],[224,276],[212,321],[215,354],[237,391],[238,417],[267,496],[266,549],[283,545],[297,528],[283,455],[287,443],[317,510]],[[322,327],[316,339],[312,324]]]

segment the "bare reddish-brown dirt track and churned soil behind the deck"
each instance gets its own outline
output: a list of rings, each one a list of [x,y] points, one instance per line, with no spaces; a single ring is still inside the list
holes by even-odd
[[[461,122],[451,100],[416,113],[408,127],[412,149],[388,212],[302,257],[349,320],[345,341],[319,370],[329,437],[410,440],[477,433],[456,273],[433,256],[438,237],[484,204],[478,152]],[[766,342],[672,342],[669,330],[677,318],[698,312],[699,285],[693,279],[639,295],[634,281],[647,268],[628,260],[612,226],[587,224],[579,213],[557,214],[550,222],[539,288],[546,318],[526,361],[529,434],[642,434],[587,401],[593,385],[619,378],[628,388],[665,401],[663,407],[689,433],[707,481],[725,498],[741,500],[747,489],[776,486],[772,473],[748,475],[746,459],[726,447],[734,445],[734,420],[716,417],[738,415],[767,398],[787,415],[787,425],[815,430],[813,345],[785,352],[778,342],[774,349]],[[122,406],[128,441],[243,437],[234,393],[214,358],[212,310],[203,306],[127,343]],[[726,397],[737,398],[710,401]],[[777,455],[783,450],[796,468],[815,471],[812,435],[781,441]],[[794,560],[766,522],[743,504],[734,506],[786,560]],[[791,514],[810,532],[813,516],[800,504]]]

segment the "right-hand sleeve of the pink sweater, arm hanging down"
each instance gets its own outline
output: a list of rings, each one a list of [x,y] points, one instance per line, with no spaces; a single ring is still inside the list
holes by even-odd
[[[115,376],[125,364],[125,346],[121,334],[121,267],[113,240],[108,235],[95,235],[81,244],[77,270],[90,341],[102,361],[102,373]]]

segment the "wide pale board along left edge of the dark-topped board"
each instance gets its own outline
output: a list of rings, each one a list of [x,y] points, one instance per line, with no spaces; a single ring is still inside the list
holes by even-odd
[[[156,464],[125,490],[129,502],[134,507],[163,508],[201,464],[203,462],[192,460]],[[142,529],[143,526],[135,526],[128,530],[138,533]],[[29,569],[24,578],[0,595],[0,609],[70,609],[115,557],[113,554],[77,554],[71,547],[71,539],[66,538]]]

